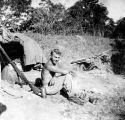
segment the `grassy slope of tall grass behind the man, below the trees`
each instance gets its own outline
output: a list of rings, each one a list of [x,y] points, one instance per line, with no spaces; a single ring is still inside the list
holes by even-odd
[[[81,36],[81,38],[79,38],[77,35],[26,34],[40,44],[47,57],[49,57],[51,49],[59,47],[63,51],[64,60],[67,62],[91,57],[93,54],[99,54],[110,49],[110,40],[101,37]]]

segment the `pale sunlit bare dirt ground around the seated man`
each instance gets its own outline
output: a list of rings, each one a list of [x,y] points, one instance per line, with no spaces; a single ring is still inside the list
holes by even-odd
[[[31,81],[40,77],[39,71],[25,73]],[[77,73],[73,79],[76,93],[97,95],[98,98],[113,94],[113,90],[124,86],[125,81],[119,76],[104,71],[92,70]],[[60,94],[47,96],[46,99],[34,95],[28,86],[20,88],[6,81],[1,82],[0,102],[7,110],[0,120],[98,120],[98,104],[86,101],[84,105],[68,101]],[[101,96],[101,97],[100,97]],[[103,100],[103,99],[102,99]],[[102,117],[102,116],[101,116]]]

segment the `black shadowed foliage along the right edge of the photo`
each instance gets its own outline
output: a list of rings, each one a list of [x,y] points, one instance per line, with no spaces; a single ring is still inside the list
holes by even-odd
[[[115,38],[112,45],[115,54],[112,56],[112,67],[117,74],[125,74],[125,18],[117,21],[112,38]]]

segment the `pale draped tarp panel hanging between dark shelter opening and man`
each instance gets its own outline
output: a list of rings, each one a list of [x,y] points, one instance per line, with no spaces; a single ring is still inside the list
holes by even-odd
[[[47,62],[42,49],[35,40],[21,33],[14,33],[13,35],[17,36],[23,45],[25,65]]]

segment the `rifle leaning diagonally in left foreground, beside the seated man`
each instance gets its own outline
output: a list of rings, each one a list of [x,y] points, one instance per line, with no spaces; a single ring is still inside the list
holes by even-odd
[[[9,61],[9,63],[13,66],[14,70],[17,72],[17,74],[19,75],[19,77],[26,83],[29,85],[29,87],[31,88],[31,90],[33,91],[34,94],[41,96],[41,90],[39,88],[37,88],[35,85],[33,85],[32,82],[30,82],[25,75],[17,68],[17,66],[14,64],[14,62],[12,62],[12,60],[10,59],[10,57],[7,55],[7,53],[5,52],[5,50],[3,49],[3,47],[0,45],[0,50],[3,53],[3,55],[6,57],[6,59]],[[42,97],[42,96],[41,96]]]

